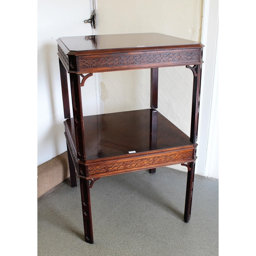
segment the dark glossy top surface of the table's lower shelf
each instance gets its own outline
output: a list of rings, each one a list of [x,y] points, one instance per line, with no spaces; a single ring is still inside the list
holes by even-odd
[[[193,145],[159,112],[156,121],[156,142],[152,147],[150,109],[83,117],[87,160]],[[75,143],[73,118],[66,120],[65,126]]]

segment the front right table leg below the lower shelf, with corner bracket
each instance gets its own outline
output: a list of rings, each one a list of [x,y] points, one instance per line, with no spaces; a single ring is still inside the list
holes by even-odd
[[[186,187],[186,199],[185,199],[185,210],[184,210],[184,221],[188,222],[191,215],[191,204],[193,197],[194,187],[194,176],[195,176],[195,162],[182,164],[187,166],[187,187]]]

